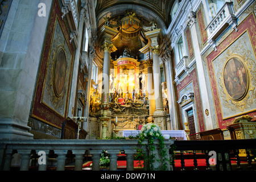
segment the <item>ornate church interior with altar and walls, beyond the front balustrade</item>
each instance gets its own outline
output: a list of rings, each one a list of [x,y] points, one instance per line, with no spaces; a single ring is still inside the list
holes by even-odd
[[[154,123],[181,143],[254,141],[255,15],[254,0],[0,1],[0,138],[108,143]]]

